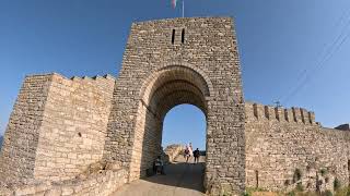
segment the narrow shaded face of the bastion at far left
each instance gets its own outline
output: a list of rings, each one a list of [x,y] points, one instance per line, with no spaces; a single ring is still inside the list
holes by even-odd
[[[51,75],[24,79],[3,138],[0,181],[13,183],[34,176],[36,149]]]

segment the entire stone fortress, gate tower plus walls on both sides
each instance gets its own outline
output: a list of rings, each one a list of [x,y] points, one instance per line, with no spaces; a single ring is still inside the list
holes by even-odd
[[[322,127],[301,108],[244,102],[232,19],[194,17],[133,23],[118,78],[27,76],[5,132],[0,185],[72,181],[105,162],[120,169],[70,189],[45,187],[108,195],[145,175],[161,154],[164,117],[182,103],[206,114],[205,187],[213,195],[350,182],[348,126]]]

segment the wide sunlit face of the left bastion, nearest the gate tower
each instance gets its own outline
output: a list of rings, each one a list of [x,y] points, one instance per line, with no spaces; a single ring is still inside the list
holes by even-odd
[[[52,75],[36,152],[37,180],[62,181],[102,159],[115,78]]]

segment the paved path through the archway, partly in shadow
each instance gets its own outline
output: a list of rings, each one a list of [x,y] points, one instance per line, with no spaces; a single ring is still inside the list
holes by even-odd
[[[201,162],[186,163],[184,157],[178,162],[165,166],[165,175],[153,175],[121,186],[113,196],[203,196],[205,157]]]

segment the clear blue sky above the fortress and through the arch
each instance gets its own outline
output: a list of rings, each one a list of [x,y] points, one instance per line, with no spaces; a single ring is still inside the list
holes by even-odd
[[[350,1],[186,0],[185,15],[235,17],[247,100],[281,98],[325,126],[349,122]],[[131,23],[177,16],[171,0],[1,0],[0,133],[26,74],[118,75]],[[189,134],[202,148],[205,126],[197,108],[176,107],[164,142]]]

